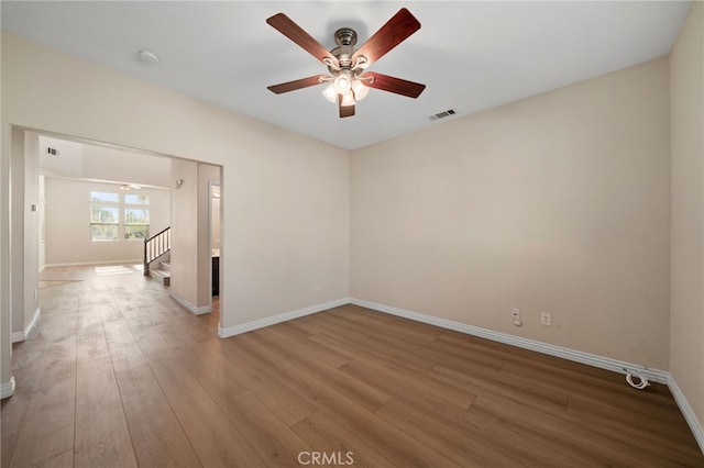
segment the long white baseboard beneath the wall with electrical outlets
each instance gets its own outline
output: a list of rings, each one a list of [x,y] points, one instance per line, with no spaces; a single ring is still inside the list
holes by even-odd
[[[534,339],[522,338],[520,336],[508,335],[506,333],[494,332],[479,326],[468,325],[451,320],[439,319],[432,315],[426,315],[418,312],[411,312],[391,305],[378,304],[362,299],[350,299],[350,303],[361,305],[363,308],[373,309],[378,312],[398,315],[404,319],[415,320],[430,325],[440,326],[442,328],[453,330],[455,332],[465,333],[468,335],[479,336],[498,343],[504,343],[519,348],[530,349],[550,356],[561,357],[563,359],[573,360],[575,363],[586,364],[588,366],[598,367],[601,369],[613,370],[619,374],[627,374],[626,370],[637,370],[648,380],[660,383],[668,383],[670,374],[664,370],[644,368],[640,365],[627,363],[623,360],[612,359],[608,357],[597,356],[575,349],[554,346],[547,343],[536,342]],[[627,385],[627,383],[626,383]]]

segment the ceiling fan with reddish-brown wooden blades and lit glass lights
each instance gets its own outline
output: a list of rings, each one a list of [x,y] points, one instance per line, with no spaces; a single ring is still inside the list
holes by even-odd
[[[338,46],[328,51],[284,13],[277,13],[266,22],[327,65],[330,71],[329,75],[314,75],[268,86],[267,89],[276,94],[328,83],[322,94],[329,101],[338,103],[340,118],[346,118],[354,115],[354,104],[366,97],[369,88],[409,98],[417,98],[426,88],[426,85],[366,71],[370,65],[420,29],[420,22],[405,8],[392,16],[360,48],[354,48],[356,32],[350,27],[342,27],[334,33]]]

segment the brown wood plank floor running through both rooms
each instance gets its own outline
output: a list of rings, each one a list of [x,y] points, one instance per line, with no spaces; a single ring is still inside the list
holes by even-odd
[[[132,266],[51,268],[3,467],[703,467],[666,386],[346,305],[235,337]]]

